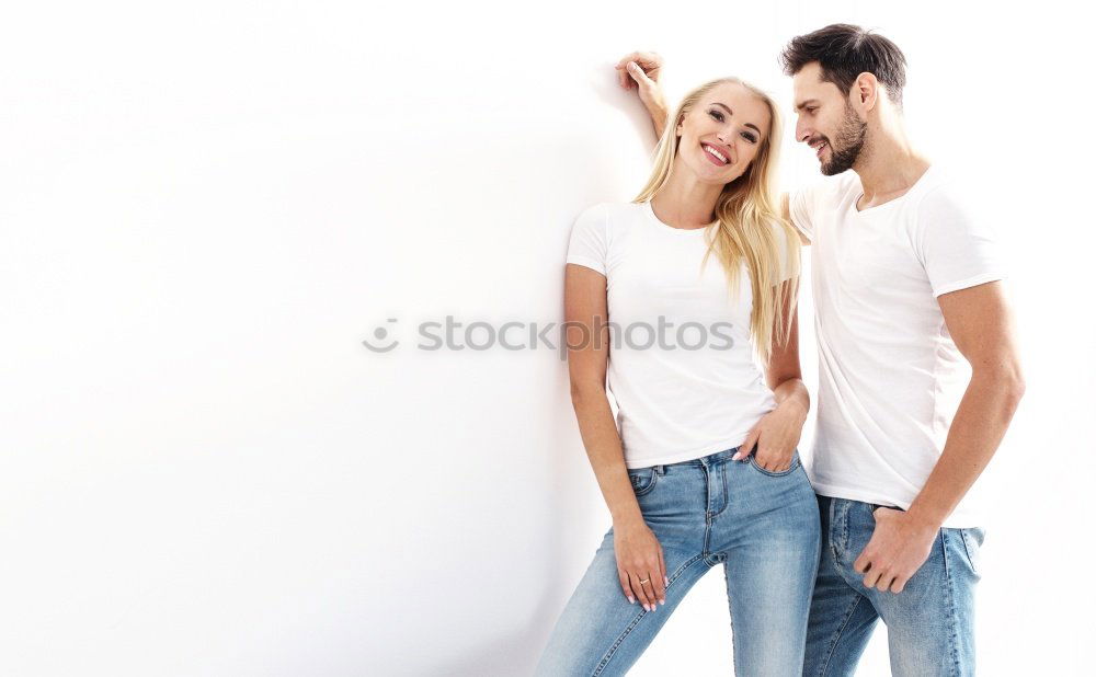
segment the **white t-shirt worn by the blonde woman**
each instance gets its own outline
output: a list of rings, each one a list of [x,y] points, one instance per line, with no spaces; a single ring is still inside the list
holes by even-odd
[[[700,271],[712,230],[663,223],[650,202],[595,205],[571,230],[567,263],[606,277],[607,381],[628,468],[737,447],[775,406],[753,357],[744,265],[735,299],[715,252]]]

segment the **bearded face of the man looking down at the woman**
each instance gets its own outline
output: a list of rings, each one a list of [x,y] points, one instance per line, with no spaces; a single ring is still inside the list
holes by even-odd
[[[850,169],[864,149],[868,125],[833,82],[823,82],[814,61],[792,78],[796,102],[796,139],[814,149],[826,176]]]

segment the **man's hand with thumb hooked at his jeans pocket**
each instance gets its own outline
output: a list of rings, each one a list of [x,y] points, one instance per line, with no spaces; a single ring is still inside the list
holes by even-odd
[[[939,528],[887,507],[876,508],[874,516],[876,530],[853,569],[865,574],[866,587],[901,593],[928,559]]]

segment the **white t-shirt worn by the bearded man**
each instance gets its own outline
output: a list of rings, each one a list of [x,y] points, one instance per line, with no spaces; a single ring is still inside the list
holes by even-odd
[[[939,459],[970,366],[936,297],[1004,277],[992,231],[929,169],[901,197],[858,211],[848,171],[794,193],[811,240],[819,403],[814,490],[903,509]],[[981,525],[971,492],[945,527]]]

